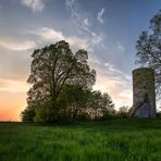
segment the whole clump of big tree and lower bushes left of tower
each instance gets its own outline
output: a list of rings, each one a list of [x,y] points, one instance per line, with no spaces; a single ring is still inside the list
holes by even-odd
[[[75,54],[62,40],[32,54],[27,82],[27,107],[24,122],[57,122],[71,119],[103,119],[114,115],[114,103],[108,94],[92,90],[96,71],[88,65],[88,53]]]

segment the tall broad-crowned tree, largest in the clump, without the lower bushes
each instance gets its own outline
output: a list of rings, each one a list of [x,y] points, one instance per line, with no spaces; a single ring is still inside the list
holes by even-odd
[[[96,72],[90,70],[87,63],[87,51],[78,50],[73,54],[69,44],[64,40],[35,50],[32,57],[30,75],[27,82],[33,87],[27,92],[26,111],[35,109],[37,121],[41,120],[41,115],[46,117],[46,122],[59,119],[62,112],[60,99],[66,86],[71,86],[70,90],[76,85],[82,89],[91,89],[95,84]],[[69,92],[73,91],[74,89]],[[78,96],[75,94],[75,97]],[[24,111],[22,119],[25,114]]]

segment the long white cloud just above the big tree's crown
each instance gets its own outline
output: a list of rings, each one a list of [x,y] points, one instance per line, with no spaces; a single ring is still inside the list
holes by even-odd
[[[67,36],[60,30],[55,30],[54,28],[49,28],[49,27],[42,27],[35,30],[27,30],[27,34],[37,36],[35,37],[35,41],[37,42],[38,47],[42,47],[47,44],[53,44],[59,40],[66,40],[74,51],[81,48],[87,50],[88,52],[94,52],[95,48],[106,49],[106,46],[103,44],[104,39],[103,34],[95,35],[91,37],[88,37],[86,35]]]

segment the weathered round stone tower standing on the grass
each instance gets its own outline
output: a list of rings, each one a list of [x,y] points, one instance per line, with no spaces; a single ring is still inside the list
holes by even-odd
[[[133,116],[156,117],[154,71],[143,67],[133,71]]]

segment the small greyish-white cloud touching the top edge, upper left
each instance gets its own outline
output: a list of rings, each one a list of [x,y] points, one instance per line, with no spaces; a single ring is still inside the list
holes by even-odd
[[[36,11],[42,11],[45,8],[45,1],[46,0],[21,0],[22,4],[30,8],[34,12]]]

